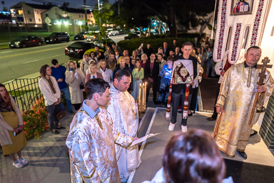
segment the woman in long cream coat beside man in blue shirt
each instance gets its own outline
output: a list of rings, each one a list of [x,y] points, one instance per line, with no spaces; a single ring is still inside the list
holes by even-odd
[[[79,110],[84,100],[84,88],[80,88],[80,84],[84,85],[84,77],[82,72],[77,69],[77,66],[73,61],[69,61],[66,64],[66,83],[69,84],[71,103],[73,104],[75,110]]]

